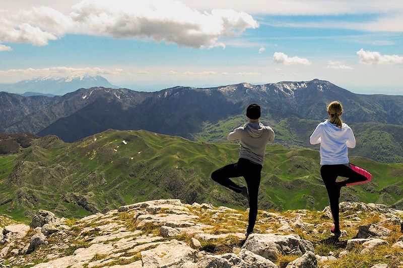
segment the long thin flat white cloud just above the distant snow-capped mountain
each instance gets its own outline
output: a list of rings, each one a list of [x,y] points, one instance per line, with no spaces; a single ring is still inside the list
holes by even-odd
[[[124,74],[122,69],[118,68],[98,68],[98,67],[85,67],[85,68],[73,68],[65,66],[49,67],[49,68],[26,68],[26,69],[9,69],[0,70],[1,75],[18,75],[23,74],[25,76],[66,76],[66,75],[104,75],[104,74]]]

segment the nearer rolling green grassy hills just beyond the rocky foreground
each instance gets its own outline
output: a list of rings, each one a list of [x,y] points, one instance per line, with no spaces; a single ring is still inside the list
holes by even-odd
[[[238,146],[192,142],[148,131],[108,130],[75,143],[47,136],[33,141],[20,154],[0,156],[0,214],[24,220],[37,209],[48,209],[60,216],[81,217],[162,198],[245,208],[240,195],[210,178],[216,168],[237,161]],[[374,179],[362,187],[343,189],[341,201],[387,205],[399,201],[403,164],[351,160],[368,168]],[[326,206],[318,163],[317,151],[268,145],[260,185],[261,209]]]

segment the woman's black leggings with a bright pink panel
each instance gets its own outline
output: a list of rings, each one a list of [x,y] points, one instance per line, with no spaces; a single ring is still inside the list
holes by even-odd
[[[329,195],[330,210],[334,221],[334,228],[340,229],[339,225],[339,197],[340,188],[347,185],[356,185],[369,182],[372,178],[371,173],[367,170],[349,164],[343,165],[322,165],[320,167],[320,175],[324,185],[326,186],[327,194]],[[342,182],[337,182],[338,176],[347,177],[348,179]]]

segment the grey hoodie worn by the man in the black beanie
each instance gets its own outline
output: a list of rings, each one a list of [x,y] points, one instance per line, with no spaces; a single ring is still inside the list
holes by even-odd
[[[251,122],[228,134],[228,140],[239,140],[239,158],[263,165],[266,144],[274,140],[274,131],[260,122]]]

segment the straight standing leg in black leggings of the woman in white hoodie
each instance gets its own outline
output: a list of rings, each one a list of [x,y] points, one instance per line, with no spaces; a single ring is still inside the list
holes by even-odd
[[[329,196],[331,216],[334,222],[334,230],[340,231],[339,223],[339,189],[335,183],[337,179],[337,166],[339,165],[322,165],[320,175]]]

